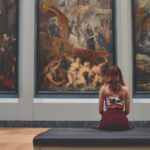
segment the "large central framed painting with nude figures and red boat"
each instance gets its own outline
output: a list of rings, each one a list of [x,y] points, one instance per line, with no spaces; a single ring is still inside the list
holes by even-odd
[[[115,63],[114,0],[38,0],[35,94],[97,96]]]

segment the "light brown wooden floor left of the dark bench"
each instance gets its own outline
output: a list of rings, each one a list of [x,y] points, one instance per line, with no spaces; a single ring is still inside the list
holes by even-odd
[[[33,137],[48,128],[0,128],[0,150],[33,150]]]

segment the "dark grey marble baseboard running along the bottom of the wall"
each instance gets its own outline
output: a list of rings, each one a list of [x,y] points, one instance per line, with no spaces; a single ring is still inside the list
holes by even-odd
[[[0,121],[0,127],[31,127],[31,128],[87,128],[95,126],[98,121]],[[150,121],[130,121],[134,127],[150,127]]]

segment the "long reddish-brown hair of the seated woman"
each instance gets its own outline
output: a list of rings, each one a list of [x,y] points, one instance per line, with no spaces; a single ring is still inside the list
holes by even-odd
[[[122,85],[125,85],[121,70],[118,66],[111,66],[105,78],[105,83],[114,92],[119,92]]]

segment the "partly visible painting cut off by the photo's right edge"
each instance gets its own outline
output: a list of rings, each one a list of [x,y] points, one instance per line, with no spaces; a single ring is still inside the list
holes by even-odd
[[[150,93],[150,0],[133,0],[134,91]]]

